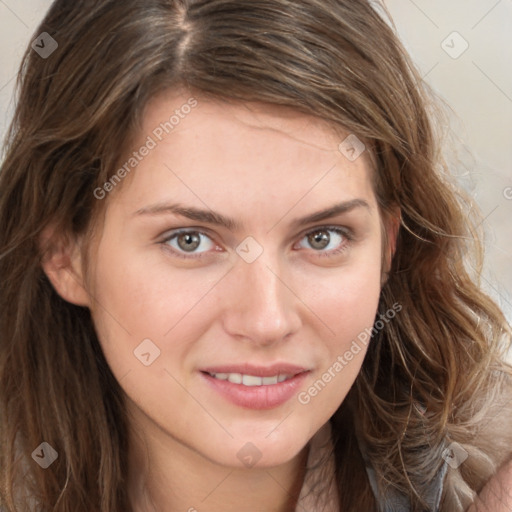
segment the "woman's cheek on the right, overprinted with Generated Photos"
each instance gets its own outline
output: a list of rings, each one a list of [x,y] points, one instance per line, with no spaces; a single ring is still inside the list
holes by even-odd
[[[381,289],[380,251],[377,243],[374,245],[375,250],[357,260],[324,276],[317,272],[302,284],[304,302],[327,329],[323,329],[322,340],[316,340],[317,351],[322,351],[321,364],[297,398],[325,420],[354,383],[371,340]]]

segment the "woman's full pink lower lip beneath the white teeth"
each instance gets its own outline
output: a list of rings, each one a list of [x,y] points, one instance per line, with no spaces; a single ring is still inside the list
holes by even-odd
[[[286,403],[294,396],[309,372],[299,373],[291,379],[267,386],[244,386],[220,380],[208,373],[202,377],[208,384],[230,402],[246,409],[274,409]]]

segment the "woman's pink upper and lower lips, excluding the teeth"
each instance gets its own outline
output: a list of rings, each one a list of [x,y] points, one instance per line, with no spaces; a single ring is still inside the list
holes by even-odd
[[[294,375],[294,377],[277,384],[262,386],[244,386],[227,380],[219,380],[209,373],[242,373],[256,377],[271,377],[273,375]],[[283,405],[300,389],[309,371],[293,365],[273,365],[255,367],[251,365],[218,366],[202,370],[200,375],[215,391],[231,403],[246,409],[264,410]]]

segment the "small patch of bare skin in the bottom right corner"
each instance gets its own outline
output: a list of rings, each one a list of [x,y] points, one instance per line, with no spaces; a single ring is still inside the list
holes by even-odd
[[[512,510],[512,460],[487,482],[467,512],[510,512]]]

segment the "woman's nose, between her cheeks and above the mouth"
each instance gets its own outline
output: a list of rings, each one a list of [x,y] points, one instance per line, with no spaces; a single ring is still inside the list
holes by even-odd
[[[283,267],[265,252],[252,263],[237,261],[223,291],[223,325],[229,335],[265,346],[299,330],[301,302]]]

